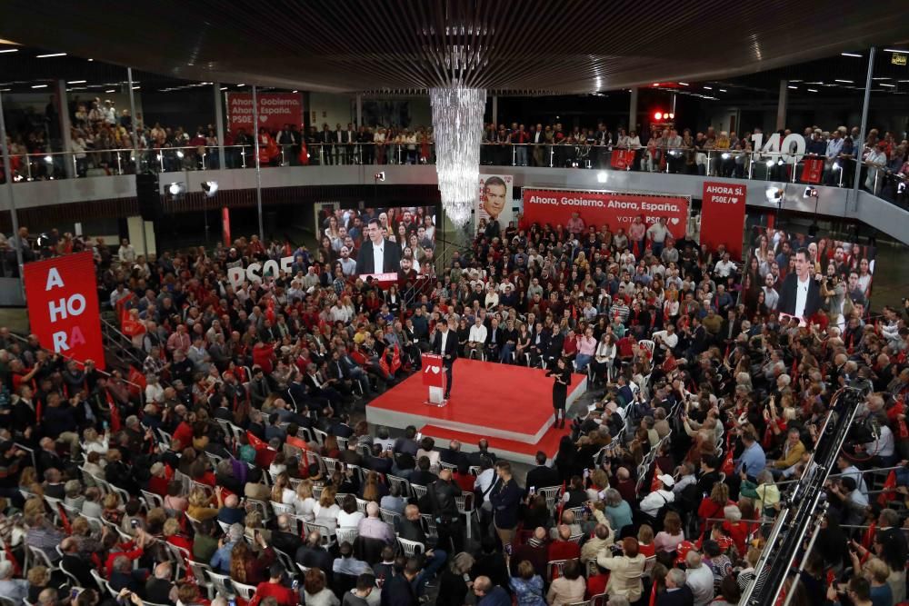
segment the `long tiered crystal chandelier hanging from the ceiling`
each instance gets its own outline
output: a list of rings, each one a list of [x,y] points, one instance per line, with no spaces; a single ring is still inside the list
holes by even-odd
[[[480,190],[480,138],[486,91],[482,88],[431,88],[435,172],[442,207],[456,227],[470,221]]]

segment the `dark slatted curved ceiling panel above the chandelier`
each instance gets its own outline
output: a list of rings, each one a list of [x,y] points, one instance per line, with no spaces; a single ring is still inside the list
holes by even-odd
[[[0,37],[174,78],[314,91],[590,93],[909,40],[904,0],[7,0]],[[10,18],[9,15],[28,15]]]

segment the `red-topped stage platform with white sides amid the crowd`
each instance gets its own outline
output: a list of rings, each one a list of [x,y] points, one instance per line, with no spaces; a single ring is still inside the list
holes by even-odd
[[[569,406],[586,387],[586,375],[572,375]],[[461,358],[454,363],[446,406],[425,404],[426,392],[422,375],[415,373],[369,402],[366,420],[399,429],[414,425],[443,446],[461,441],[465,452],[475,451],[476,442],[486,438],[490,450],[519,462],[534,462],[538,450],[554,455],[568,432],[552,428],[553,378],[540,369]]]

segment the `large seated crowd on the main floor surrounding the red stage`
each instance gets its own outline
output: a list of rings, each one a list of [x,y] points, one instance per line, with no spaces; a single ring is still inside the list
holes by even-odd
[[[737,603],[834,393],[852,387],[864,403],[830,508],[784,594],[904,601],[905,310],[853,306],[847,329],[781,323],[749,306],[750,270],[723,250],[576,222],[489,227],[409,301],[345,271],[368,244],[364,224],[419,241],[423,218],[326,214],[317,252],[254,235],[146,258],[128,242],[56,236],[52,254],[94,251],[105,313],[135,363],[105,373],[0,329],[0,596]],[[27,231],[10,241],[28,245]],[[782,255],[781,279],[807,254],[756,244]],[[284,256],[286,275],[227,279]],[[465,452],[363,420],[443,324],[458,355],[588,373],[590,403],[569,411],[553,457],[524,473],[485,440]]]

